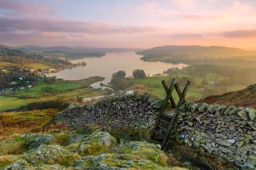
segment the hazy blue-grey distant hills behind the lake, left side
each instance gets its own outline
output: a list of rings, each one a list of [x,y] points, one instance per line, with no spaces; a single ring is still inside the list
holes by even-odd
[[[52,57],[67,57],[67,58],[82,58],[82,57],[101,57],[107,52],[125,52],[138,51],[141,49],[131,48],[94,48],[86,46],[37,46],[37,45],[23,45],[16,46],[15,49],[20,49],[26,52],[38,52],[46,56]]]

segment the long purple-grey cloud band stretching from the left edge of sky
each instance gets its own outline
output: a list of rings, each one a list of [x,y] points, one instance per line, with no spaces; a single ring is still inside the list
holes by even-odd
[[[60,19],[19,19],[0,17],[0,31],[31,30],[40,32],[143,33],[163,28],[119,26],[103,22],[81,22]]]

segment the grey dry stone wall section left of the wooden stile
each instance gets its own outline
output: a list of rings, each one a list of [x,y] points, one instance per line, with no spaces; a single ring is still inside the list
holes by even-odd
[[[162,100],[151,94],[131,94],[109,97],[97,103],[66,109],[56,114],[55,121],[69,126],[85,126],[100,123],[109,126],[149,128],[154,126],[154,109],[162,106]]]

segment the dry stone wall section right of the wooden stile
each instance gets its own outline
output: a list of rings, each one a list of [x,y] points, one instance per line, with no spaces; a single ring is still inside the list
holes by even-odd
[[[255,109],[187,102],[172,132],[189,146],[203,147],[245,169],[256,169]]]

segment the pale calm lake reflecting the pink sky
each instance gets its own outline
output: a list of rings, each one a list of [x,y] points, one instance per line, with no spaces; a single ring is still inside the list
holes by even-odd
[[[79,80],[88,78],[90,76],[104,76],[105,80],[102,83],[110,82],[112,74],[119,70],[125,70],[126,76],[133,75],[133,70],[142,69],[146,74],[163,73],[164,70],[172,67],[182,69],[187,65],[164,63],[164,62],[146,62],[141,60],[142,56],[137,55],[135,52],[112,52],[106,53],[103,57],[92,57],[71,60],[72,63],[86,62],[84,67],[76,67],[73,69],[61,70],[58,73],[50,74],[65,80]],[[92,87],[100,87],[100,82],[92,84]]]

